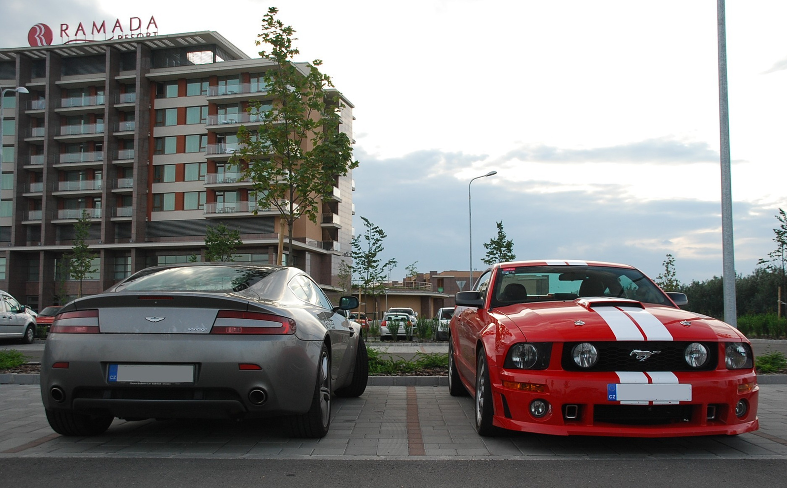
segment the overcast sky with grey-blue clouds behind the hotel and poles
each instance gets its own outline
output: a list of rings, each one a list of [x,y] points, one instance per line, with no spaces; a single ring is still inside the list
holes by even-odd
[[[218,31],[249,56],[268,6],[299,61],[355,105],[353,195],[386,255],[419,272],[473,265],[495,221],[519,259],[722,274],[715,0],[2,0],[0,46],[28,30],[154,16],[161,34]],[[774,249],[785,207],[787,2],[728,0],[736,271]],[[54,43],[59,43],[57,32]]]

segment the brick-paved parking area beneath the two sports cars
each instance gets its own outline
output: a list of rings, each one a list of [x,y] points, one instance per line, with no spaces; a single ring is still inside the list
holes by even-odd
[[[470,397],[445,386],[369,386],[335,398],[322,439],[288,438],[276,420],[115,420],[105,434],[66,438],[46,423],[38,385],[0,385],[0,457],[243,457],[471,459],[787,458],[787,385],[760,386],[760,430],[705,438],[482,438]]]

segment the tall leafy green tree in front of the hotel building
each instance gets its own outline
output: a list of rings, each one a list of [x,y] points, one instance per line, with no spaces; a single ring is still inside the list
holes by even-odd
[[[339,128],[341,94],[320,72],[322,61],[293,61],[299,54],[293,46],[295,31],[277,13],[275,7],[268,9],[257,35],[257,46],[266,47],[260,56],[273,62],[263,73],[272,105],[249,107],[262,123],[257,131],[238,130],[241,146],[231,163],[247,165],[242,172],[251,181],[257,205],[279,211],[292,253],[295,221],[305,216],[316,223],[320,203],[332,197],[337,177],[358,162],[353,161],[352,142]],[[280,248],[279,264],[282,257]]]

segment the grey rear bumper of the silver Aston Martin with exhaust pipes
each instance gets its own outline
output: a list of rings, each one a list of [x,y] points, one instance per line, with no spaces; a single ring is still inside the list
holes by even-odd
[[[303,413],[311,405],[321,347],[294,335],[53,334],[42,357],[41,396],[46,409],[127,419]],[[68,368],[53,368],[55,363]],[[193,365],[194,381],[113,382],[113,364]],[[251,394],[260,390],[261,403],[259,393]]]

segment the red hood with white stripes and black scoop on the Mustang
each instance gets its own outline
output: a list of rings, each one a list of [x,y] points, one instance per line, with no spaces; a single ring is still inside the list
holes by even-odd
[[[580,298],[508,305],[491,311],[529,342],[555,341],[743,341],[745,335],[721,320],[639,301]],[[515,325],[515,327],[512,327]]]

